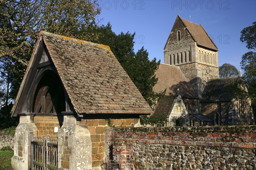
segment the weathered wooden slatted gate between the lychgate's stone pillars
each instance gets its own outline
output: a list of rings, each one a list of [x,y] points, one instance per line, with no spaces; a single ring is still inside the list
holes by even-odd
[[[32,170],[57,170],[58,140],[35,138],[31,142],[31,165]]]

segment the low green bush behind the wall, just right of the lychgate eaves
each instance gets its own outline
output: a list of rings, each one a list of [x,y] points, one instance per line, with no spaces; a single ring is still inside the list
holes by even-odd
[[[140,116],[140,124],[143,126],[151,125],[163,127],[166,124],[166,117],[156,117],[156,116]]]

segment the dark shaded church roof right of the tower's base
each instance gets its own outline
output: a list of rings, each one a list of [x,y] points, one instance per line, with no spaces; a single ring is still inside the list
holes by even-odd
[[[238,76],[210,79],[202,94],[201,102],[229,101],[232,99],[233,91],[227,85],[236,82]]]

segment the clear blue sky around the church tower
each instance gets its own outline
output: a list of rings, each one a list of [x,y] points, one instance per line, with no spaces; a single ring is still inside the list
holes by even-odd
[[[256,21],[256,0],[99,0],[101,24],[111,23],[116,34],[136,32],[135,52],[144,46],[149,59],[163,62],[163,48],[177,15],[201,24],[218,47],[219,66],[240,69],[247,52],[240,42],[243,28]]]

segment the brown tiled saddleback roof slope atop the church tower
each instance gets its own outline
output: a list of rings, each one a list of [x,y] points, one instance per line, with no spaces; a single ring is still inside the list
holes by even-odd
[[[180,17],[178,15],[178,17]],[[192,23],[191,21],[184,20],[180,17],[189,33],[192,35],[193,39],[197,42],[197,45],[201,45],[203,47],[210,48],[212,50],[218,51],[217,46],[209,37],[203,26],[198,25],[196,23]]]

